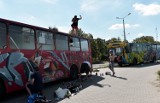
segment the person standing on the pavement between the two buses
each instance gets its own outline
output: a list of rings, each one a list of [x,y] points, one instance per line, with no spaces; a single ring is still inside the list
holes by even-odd
[[[112,71],[113,76],[114,76],[115,71],[114,71],[114,54],[113,54],[113,51],[109,51],[109,69]]]

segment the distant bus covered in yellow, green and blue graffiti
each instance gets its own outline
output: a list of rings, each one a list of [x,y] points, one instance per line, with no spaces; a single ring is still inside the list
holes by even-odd
[[[119,66],[156,62],[160,59],[160,44],[154,43],[109,43],[108,49],[115,55]]]

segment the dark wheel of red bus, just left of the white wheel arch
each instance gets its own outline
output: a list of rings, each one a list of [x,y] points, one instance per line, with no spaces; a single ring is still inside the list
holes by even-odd
[[[72,65],[70,68],[70,78],[72,80],[78,78],[78,67],[76,65]]]

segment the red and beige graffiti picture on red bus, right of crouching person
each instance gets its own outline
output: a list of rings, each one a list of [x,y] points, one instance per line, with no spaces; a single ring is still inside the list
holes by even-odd
[[[62,65],[67,71],[70,70],[68,57],[65,52],[60,52],[60,55],[57,55],[53,51],[46,51],[43,53],[36,51],[31,59],[39,68],[43,68],[44,82],[50,82],[65,76],[64,70],[62,70],[59,65]]]

